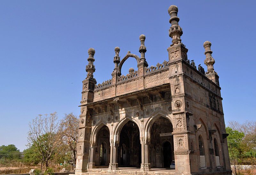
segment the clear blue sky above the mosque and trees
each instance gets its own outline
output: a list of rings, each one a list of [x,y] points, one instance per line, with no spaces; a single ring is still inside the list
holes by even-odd
[[[0,145],[25,149],[28,123],[38,114],[79,115],[90,47],[97,84],[111,78],[116,46],[121,58],[127,51],[140,55],[140,34],[149,66],[168,60],[172,4],[188,59],[205,70],[203,43],[212,42],[226,124],[255,119],[254,1],[6,0],[0,2]],[[124,63],[123,73],[130,67],[135,59]]]

